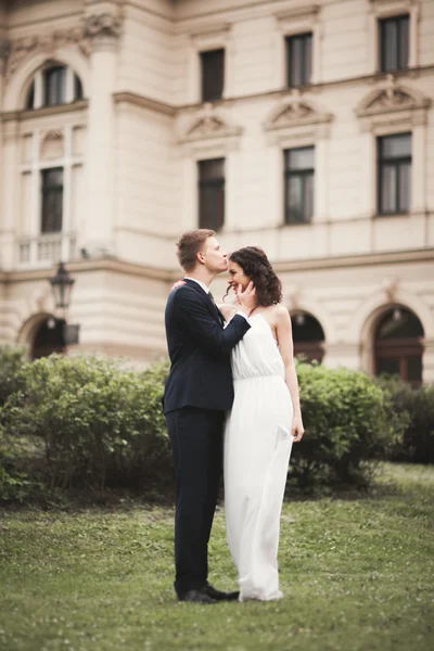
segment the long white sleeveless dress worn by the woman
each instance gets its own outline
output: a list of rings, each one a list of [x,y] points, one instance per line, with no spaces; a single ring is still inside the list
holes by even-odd
[[[232,350],[234,401],[225,431],[225,510],[240,601],[280,599],[280,514],[293,437],[284,365],[263,315]]]

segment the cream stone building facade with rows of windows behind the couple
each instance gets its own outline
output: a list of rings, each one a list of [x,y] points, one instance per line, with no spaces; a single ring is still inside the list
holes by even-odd
[[[0,0],[0,342],[55,347],[62,259],[75,352],[164,355],[207,227],[265,248],[297,353],[434,380],[432,1]]]

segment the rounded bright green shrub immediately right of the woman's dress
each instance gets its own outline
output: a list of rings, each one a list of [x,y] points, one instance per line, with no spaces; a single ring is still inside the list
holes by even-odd
[[[306,436],[293,446],[290,481],[367,485],[367,460],[385,455],[400,435],[387,394],[348,369],[298,362],[297,374]]]

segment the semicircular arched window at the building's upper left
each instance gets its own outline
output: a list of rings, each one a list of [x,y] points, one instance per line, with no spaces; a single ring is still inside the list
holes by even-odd
[[[60,106],[82,100],[82,85],[78,75],[66,65],[50,62],[35,73],[27,91],[26,108]]]

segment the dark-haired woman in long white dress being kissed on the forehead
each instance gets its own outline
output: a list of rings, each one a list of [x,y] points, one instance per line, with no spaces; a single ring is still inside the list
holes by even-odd
[[[251,330],[232,350],[234,401],[225,431],[226,529],[239,572],[240,601],[280,599],[278,546],[292,444],[304,427],[293,358],[291,319],[281,282],[264,251],[245,246],[229,257],[229,289],[250,281],[257,303]],[[233,305],[219,306],[227,321]]]

